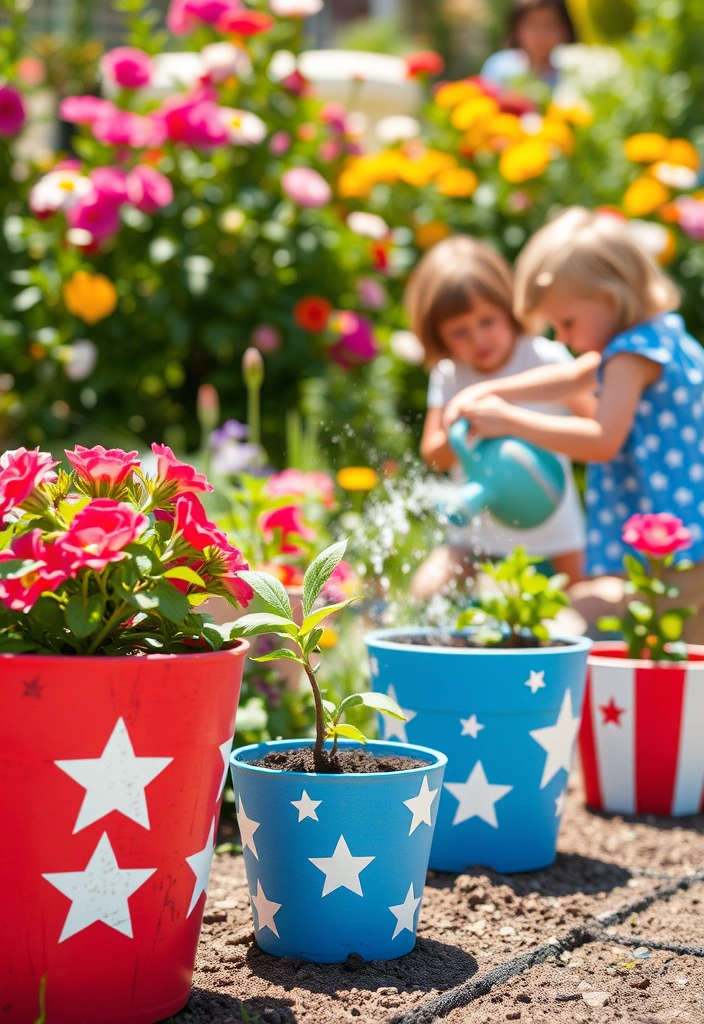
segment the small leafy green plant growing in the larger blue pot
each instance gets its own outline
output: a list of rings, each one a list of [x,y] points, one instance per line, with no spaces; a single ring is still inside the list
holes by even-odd
[[[564,575],[548,578],[535,568],[540,558],[526,554],[519,547],[497,563],[481,566],[496,584],[500,593],[480,595],[475,607],[467,608],[457,620],[457,629],[479,627],[478,639],[487,646],[511,643],[532,634],[537,640],[548,640],[545,620],[555,618],[561,608],[569,605],[563,588]]]

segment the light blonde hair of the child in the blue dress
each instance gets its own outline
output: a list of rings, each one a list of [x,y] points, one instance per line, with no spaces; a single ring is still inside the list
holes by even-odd
[[[619,330],[676,309],[679,292],[634,241],[626,221],[573,206],[528,242],[516,263],[514,313],[539,330],[536,310],[552,288],[608,295]]]

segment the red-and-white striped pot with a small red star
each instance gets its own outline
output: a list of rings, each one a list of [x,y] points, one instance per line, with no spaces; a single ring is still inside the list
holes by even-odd
[[[687,662],[634,662],[598,643],[579,754],[586,803],[620,814],[697,814],[704,808],[704,647]]]

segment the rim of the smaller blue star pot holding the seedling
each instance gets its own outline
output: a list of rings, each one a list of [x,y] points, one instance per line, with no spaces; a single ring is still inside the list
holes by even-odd
[[[325,746],[329,746],[331,743],[332,740],[326,740]],[[360,746],[360,744],[355,742],[353,739],[342,739],[338,745],[343,749],[347,748],[352,750]],[[419,746],[415,743],[390,742],[386,739],[369,739],[364,750],[370,750],[373,753],[375,750],[379,750],[380,746],[383,746],[385,751],[393,751],[394,754],[398,753],[404,757],[431,758],[431,763],[419,765],[416,768],[404,768],[402,771],[345,772],[334,774],[332,772],[281,771],[278,768],[264,768],[262,765],[253,765],[245,760],[248,755],[251,756],[255,751],[259,751],[263,746],[266,746],[269,750],[283,751],[294,750],[297,746],[310,746],[312,749],[313,740],[265,739],[261,743],[248,743],[247,746],[238,746],[236,751],[232,751],[232,754],[230,755],[230,766],[236,767],[237,771],[243,770],[249,773],[259,773],[285,779],[315,779],[316,782],[326,782],[328,784],[334,782],[343,782],[349,785],[353,782],[359,784],[371,784],[373,782],[388,781],[393,778],[403,778],[406,775],[421,775],[433,768],[444,768],[447,765],[447,757],[441,751],[434,751],[430,746]]]

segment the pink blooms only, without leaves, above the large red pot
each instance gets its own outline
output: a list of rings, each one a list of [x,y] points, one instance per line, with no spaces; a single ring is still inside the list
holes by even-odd
[[[124,559],[125,549],[149,527],[148,509],[156,518],[173,524],[167,552],[174,564],[188,564],[199,572],[204,586],[220,590],[246,604],[253,592],[238,573],[248,568],[241,554],[211,522],[195,492],[212,490],[203,473],[180,462],[166,444],[152,444],[157,471],[142,474],[136,452],[77,445],[67,457],[74,467],[79,488],[90,496],[88,504],[64,523],[63,529],[44,535],[33,529],[17,536],[0,552],[0,563],[20,561],[16,571],[0,579],[0,601],[14,611],[29,611],[41,594],[55,591],[83,569],[102,572]],[[0,458],[0,521],[8,514],[20,517],[24,507],[49,514],[51,495],[47,484],[56,480],[56,462],[46,453],[17,449]],[[144,511],[137,507],[128,486],[141,487]],[[123,501],[132,498],[133,503]],[[80,501],[78,495],[64,499]],[[53,513],[52,513],[53,515]],[[172,581],[182,587],[179,581]]]

